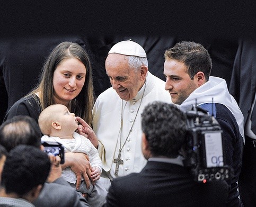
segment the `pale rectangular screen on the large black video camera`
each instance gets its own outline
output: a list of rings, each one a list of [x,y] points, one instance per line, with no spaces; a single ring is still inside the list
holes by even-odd
[[[221,131],[205,133],[205,150],[207,167],[222,167],[224,165]]]

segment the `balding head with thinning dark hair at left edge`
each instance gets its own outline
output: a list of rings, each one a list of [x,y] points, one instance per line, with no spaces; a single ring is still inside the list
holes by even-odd
[[[30,116],[17,115],[0,126],[0,145],[10,151],[17,145],[41,146],[39,125]]]

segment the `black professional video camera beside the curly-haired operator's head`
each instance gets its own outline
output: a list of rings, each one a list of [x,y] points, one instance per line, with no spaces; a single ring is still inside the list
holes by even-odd
[[[233,169],[225,163],[222,129],[218,121],[200,107],[193,106],[187,116],[187,139],[183,164],[197,182],[230,180]]]

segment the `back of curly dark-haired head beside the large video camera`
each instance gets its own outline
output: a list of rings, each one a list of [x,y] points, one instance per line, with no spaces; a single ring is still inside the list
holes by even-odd
[[[175,158],[186,138],[186,117],[173,104],[153,102],[142,113],[144,157]]]

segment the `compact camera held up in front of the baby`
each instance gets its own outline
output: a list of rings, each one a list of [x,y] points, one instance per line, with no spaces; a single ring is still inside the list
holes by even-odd
[[[45,148],[44,151],[48,155],[54,155],[60,157],[60,164],[64,164],[65,162],[65,152],[64,147],[59,142],[51,142],[51,141],[42,141],[42,145]]]

